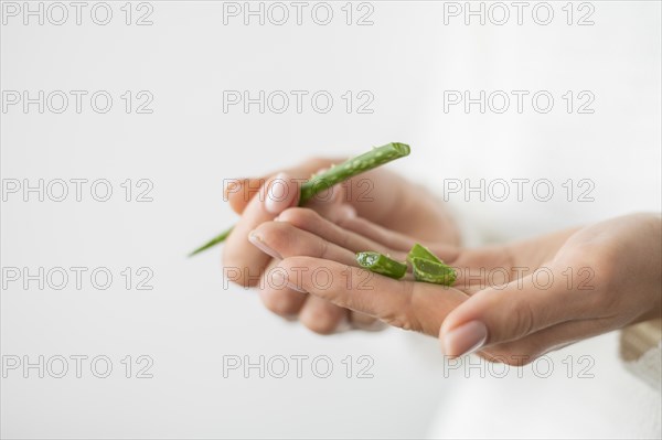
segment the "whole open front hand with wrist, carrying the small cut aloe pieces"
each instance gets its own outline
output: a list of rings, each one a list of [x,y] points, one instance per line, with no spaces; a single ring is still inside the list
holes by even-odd
[[[350,225],[365,221],[337,225],[300,208],[279,219],[257,229],[284,257],[273,271],[275,286],[403,329],[439,331],[449,356],[480,350],[491,361],[522,365],[573,342],[660,318],[658,215],[619,217],[508,246],[459,250],[429,245],[457,268],[453,288],[393,280],[355,267],[356,250],[404,259],[413,240],[397,233],[371,225],[374,230],[361,236]]]

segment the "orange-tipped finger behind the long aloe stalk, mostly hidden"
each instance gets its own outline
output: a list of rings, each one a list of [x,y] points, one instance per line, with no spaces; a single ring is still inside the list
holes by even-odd
[[[289,168],[284,170],[288,175],[295,179],[310,179],[311,174],[317,170],[324,167],[329,167],[334,163],[331,159],[309,159],[298,167]],[[229,206],[237,214],[242,214],[248,203],[255,194],[259,192],[259,189],[267,182],[267,180],[274,178],[277,173],[270,173],[263,178],[243,178],[228,180],[224,189],[224,200],[229,202]]]

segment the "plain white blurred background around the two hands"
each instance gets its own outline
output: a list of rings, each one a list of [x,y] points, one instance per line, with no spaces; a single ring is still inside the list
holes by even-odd
[[[271,315],[254,292],[225,286],[218,249],[185,258],[235,219],[222,200],[223,179],[389,141],[413,148],[392,168],[439,194],[445,179],[554,183],[549,202],[531,193],[502,203],[452,196],[476,242],[659,212],[660,3],[591,2],[595,24],[588,26],[566,23],[565,3],[551,2],[548,25],[536,24],[531,8],[522,25],[513,8],[504,25],[481,25],[476,18],[466,25],[462,17],[445,24],[442,2],[404,1],[372,2],[374,24],[367,26],[345,24],[344,2],[330,2],[334,18],[325,26],[311,20],[310,8],[301,25],[293,17],[280,26],[255,18],[244,25],[242,17],[224,25],[223,3],[211,1],[152,1],[148,26],[126,25],[124,2],[110,3],[107,25],[95,24],[89,8],[81,25],[73,15],[63,25],[39,25],[35,18],[25,25],[22,15],[3,15],[3,92],[108,90],[115,100],[107,114],[86,100],[81,114],[72,107],[39,114],[34,105],[28,112],[20,105],[3,109],[2,179],[107,179],[115,192],[105,203],[89,192],[83,202],[70,194],[61,203],[8,195],[2,267],[108,267],[115,279],[104,291],[90,288],[88,278],[82,290],[39,290],[35,283],[25,290],[21,282],[3,288],[3,356],[106,355],[114,371],[106,379],[94,377],[88,364],[82,378],[8,372],[2,436],[401,438],[425,436],[434,419],[437,430],[480,426],[494,436],[513,433],[514,426],[541,437],[634,434],[639,421],[619,416],[628,414],[628,396],[619,393],[631,378],[619,369],[615,334],[555,355],[555,382],[531,374],[514,385],[476,375],[445,378],[434,339],[395,330],[314,335]],[[579,14],[577,3],[573,8]],[[245,89],[329,90],[335,101],[328,114],[309,104],[301,114],[259,114],[255,106],[249,114],[241,107],[224,112],[223,90]],[[149,90],[153,112],[126,114],[125,90]],[[340,98],[345,90],[370,90],[374,112],[348,115]],[[514,103],[503,115],[480,114],[476,106],[469,114],[461,106],[445,112],[444,90],[548,90],[555,105],[548,114],[536,112],[530,99],[522,114]],[[595,112],[568,114],[567,90],[591,92]],[[126,179],[151,180],[153,202],[124,201],[119,183]],[[560,186],[567,179],[594,182],[595,201],[579,203],[575,194],[568,202]],[[119,275],[126,267],[151,268],[153,290],[127,290]],[[564,378],[567,354],[594,356],[595,377]],[[126,355],[151,356],[153,378],[124,377]],[[255,372],[224,378],[224,355],[327,355],[334,372],[320,379],[308,365],[302,378]],[[346,378],[341,361],[348,355],[371,356],[374,377],[356,378],[354,371]],[[551,384],[556,393],[545,395]],[[511,394],[523,408],[509,407]],[[581,401],[594,405],[574,410],[572,404]],[[547,425],[524,412],[534,408]],[[452,414],[446,425],[445,414]]]

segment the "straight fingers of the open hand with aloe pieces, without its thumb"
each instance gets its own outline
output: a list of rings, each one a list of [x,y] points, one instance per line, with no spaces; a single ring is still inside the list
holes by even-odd
[[[410,275],[394,280],[360,268],[357,251],[404,260],[415,240],[353,215],[330,222],[312,210],[293,207],[259,225],[253,236],[279,260],[267,272],[270,294],[299,292],[300,300],[322,300],[335,304],[333,310],[352,310],[435,336],[446,315],[468,298],[455,288],[415,282]]]

